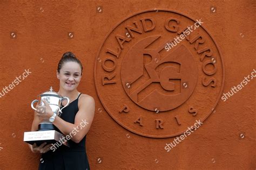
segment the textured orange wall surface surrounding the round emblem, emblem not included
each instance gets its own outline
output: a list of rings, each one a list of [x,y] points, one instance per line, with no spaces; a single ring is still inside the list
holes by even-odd
[[[0,90],[24,69],[32,73],[0,98],[0,169],[37,169],[39,155],[31,153],[23,142],[23,133],[30,131],[33,119],[30,103],[50,86],[58,90],[57,63],[66,51],[75,53],[84,66],[79,91],[96,101],[95,119],[86,140],[92,169],[256,168],[255,80],[226,102],[219,100],[204,124],[170,152],[164,147],[174,137],[139,136],[124,129],[104,110],[93,77],[100,44],[124,18],[155,8],[202,18],[223,54],[224,93],[256,68],[255,1],[2,0]]]

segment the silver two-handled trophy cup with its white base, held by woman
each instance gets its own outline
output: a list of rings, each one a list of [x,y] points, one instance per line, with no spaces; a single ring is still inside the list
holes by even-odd
[[[40,101],[39,105],[44,105],[43,100],[47,101],[53,111],[53,115],[56,114],[56,116],[60,116],[62,114],[62,109],[67,107],[69,105],[69,98],[68,97],[62,97],[55,91],[53,91],[52,87],[50,88],[50,91],[45,91],[43,94],[38,95],[41,98],[39,100],[33,100],[31,103],[31,108],[33,110],[37,110],[33,104]],[[64,107],[62,107],[62,102],[66,100],[67,103]],[[54,121],[54,119],[53,119]],[[35,132],[24,132],[24,141],[29,144],[36,143],[37,145],[40,145],[44,142],[47,143],[54,143],[60,138],[64,137],[64,135],[58,131],[56,131],[56,127],[51,123],[51,118],[49,119],[43,119],[41,123],[38,125],[38,130]],[[63,143],[66,146],[69,146],[69,144]]]

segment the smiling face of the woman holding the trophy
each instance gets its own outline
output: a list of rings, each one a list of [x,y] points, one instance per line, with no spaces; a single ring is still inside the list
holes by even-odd
[[[68,91],[75,90],[81,80],[81,72],[81,67],[77,62],[65,62],[59,73],[57,71],[59,86]]]

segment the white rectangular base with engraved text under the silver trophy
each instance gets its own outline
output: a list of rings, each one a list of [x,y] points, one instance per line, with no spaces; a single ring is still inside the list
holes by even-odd
[[[68,146],[68,141],[60,141],[60,138],[65,137],[62,133],[59,133],[56,130],[43,130],[43,131],[33,131],[33,132],[24,132],[24,139],[26,143],[33,145],[34,143],[37,146],[46,142],[47,144],[61,143],[62,145]]]

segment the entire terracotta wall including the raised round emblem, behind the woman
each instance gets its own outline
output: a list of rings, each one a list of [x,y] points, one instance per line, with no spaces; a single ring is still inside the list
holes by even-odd
[[[146,17],[156,23],[153,30],[145,30],[152,26],[150,20],[143,27]],[[172,20],[164,27],[170,17],[180,23]],[[255,1],[2,0],[0,19],[0,90],[25,69],[31,72],[0,97],[0,169],[37,169],[39,155],[31,153],[23,142],[23,133],[30,131],[33,119],[30,103],[50,86],[58,90],[57,63],[66,51],[75,53],[84,66],[79,91],[96,101],[95,119],[86,140],[91,169],[256,168],[255,78],[245,79],[256,69]],[[182,40],[171,49],[172,54],[165,49],[160,52],[162,57],[170,54],[172,59],[175,56],[184,62],[181,66],[187,69],[182,72],[183,77],[173,82],[179,93],[187,94],[173,98],[157,98],[154,94],[144,103],[136,101],[143,101],[154,89],[166,96],[178,95],[166,81],[178,79],[173,77],[177,66],[159,68],[162,77],[155,77],[158,82],[148,86],[137,99],[129,90],[142,86],[143,81],[132,84],[141,73],[147,75],[141,66],[150,58],[147,55],[143,59],[145,51],[140,45],[153,40],[146,38],[161,36],[150,46],[156,49],[165,40],[179,36],[182,26],[192,25],[196,19],[203,24],[191,33],[190,40]],[[129,32],[125,32],[125,26],[135,27],[134,21],[142,29],[137,31],[142,32],[131,31],[132,37],[126,34]],[[173,31],[176,24],[179,30]],[[195,33],[204,37],[205,46],[194,47]],[[123,37],[119,44],[117,35]],[[207,45],[213,54],[201,61],[200,49]],[[118,47],[119,58],[113,52],[107,53],[107,48],[117,52]],[[156,65],[163,58],[153,59]],[[203,70],[206,61],[209,63]],[[104,84],[102,77],[113,73],[115,77],[109,78],[113,82],[105,78]],[[203,84],[204,79],[211,78],[215,85],[214,81]],[[183,84],[184,79],[188,87]],[[160,81],[161,86],[166,83],[165,89]],[[221,100],[223,93],[231,93],[234,86],[239,89],[225,102]],[[203,125],[167,152],[166,144],[199,119]]]

